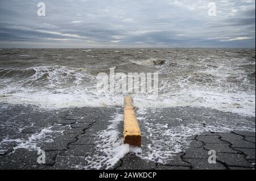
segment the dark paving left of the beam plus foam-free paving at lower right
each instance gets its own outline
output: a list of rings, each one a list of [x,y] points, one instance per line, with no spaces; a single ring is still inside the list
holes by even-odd
[[[98,133],[108,129],[109,120],[121,108],[72,108],[38,111],[33,107],[8,106],[0,116],[0,169],[95,169],[88,166],[101,141]],[[255,120],[254,120],[255,121]],[[117,124],[122,138],[122,122]],[[204,132],[189,137],[189,146],[167,163],[142,159],[128,153],[110,169],[255,169],[255,133]],[[46,163],[39,164],[36,149],[46,151]],[[216,151],[216,163],[209,164],[209,150]],[[100,151],[100,152],[99,152]],[[101,169],[106,169],[102,166]]]

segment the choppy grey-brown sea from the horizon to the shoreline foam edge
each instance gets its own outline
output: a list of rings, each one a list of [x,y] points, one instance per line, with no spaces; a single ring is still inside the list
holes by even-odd
[[[121,93],[96,90],[97,74],[159,73],[159,96],[144,107],[210,107],[255,114],[255,49],[2,49],[1,102],[45,108],[121,106]]]

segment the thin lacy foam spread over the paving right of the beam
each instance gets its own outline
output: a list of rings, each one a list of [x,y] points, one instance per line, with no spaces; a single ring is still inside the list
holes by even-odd
[[[139,123],[142,125],[143,137],[147,140],[146,144],[142,145],[140,154],[137,155],[142,159],[158,163],[166,163],[174,158],[177,153],[181,153],[188,148],[191,142],[189,137],[191,136],[200,135],[204,132],[228,133],[234,130],[255,132],[255,123],[241,119],[232,120],[232,122],[219,119],[215,123],[206,125],[180,123],[178,126],[168,127],[166,122],[158,121],[156,123],[150,120],[151,117],[146,116],[146,108],[140,108],[137,113]],[[154,109],[151,110],[151,114],[154,115]]]

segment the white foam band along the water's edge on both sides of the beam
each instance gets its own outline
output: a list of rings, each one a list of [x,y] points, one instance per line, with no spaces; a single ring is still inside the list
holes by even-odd
[[[0,94],[2,103],[34,104],[48,109],[122,106],[123,104],[123,95],[86,92],[86,89],[72,92],[63,91],[57,94],[51,91],[36,91],[4,95]],[[255,95],[245,92],[230,94],[204,90],[182,90],[169,96],[133,95],[133,99],[136,107],[207,107],[255,117]]]

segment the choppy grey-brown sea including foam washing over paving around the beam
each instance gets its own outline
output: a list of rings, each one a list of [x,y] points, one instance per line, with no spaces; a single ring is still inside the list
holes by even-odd
[[[97,169],[113,166],[128,151],[164,162],[189,145],[189,136],[205,131],[255,132],[255,123],[247,121],[255,117],[255,49],[2,49],[0,103],[44,111],[123,106],[126,94],[97,91],[97,74],[109,73],[109,68],[125,74],[159,73],[159,95],[130,94],[146,136],[142,150],[122,145],[117,129],[122,115],[117,112],[104,134],[99,133],[104,138],[99,150],[106,150],[108,158],[104,163],[97,155],[88,160]],[[186,117],[197,119],[186,123]]]

